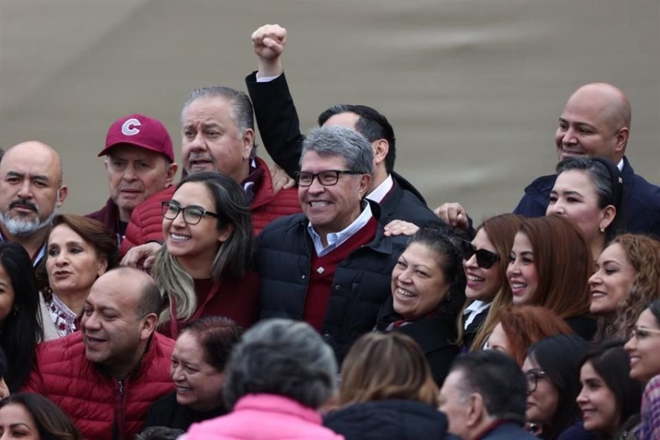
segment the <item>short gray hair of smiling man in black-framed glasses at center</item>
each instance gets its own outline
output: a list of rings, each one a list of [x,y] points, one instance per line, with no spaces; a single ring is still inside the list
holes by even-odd
[[[300,164],[308,151],[321,157],[341,156],[349,171],[373,175],[373,151],[366,137],[343,126],[321,126],[305,136]]]

